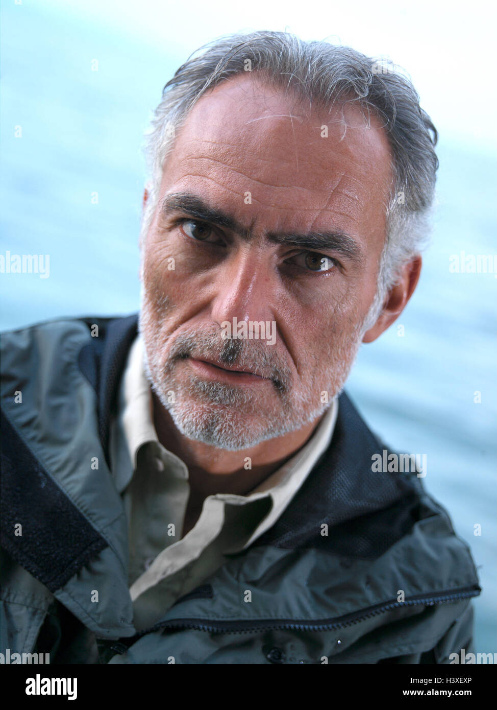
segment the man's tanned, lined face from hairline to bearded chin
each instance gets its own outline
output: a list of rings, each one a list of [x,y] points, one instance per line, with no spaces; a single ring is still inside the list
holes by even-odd
[[[140,274],[147,373],[183,435],[247,449],[328,408],[376,293],[391,180],[380,122],[352,104],[310,111],[256,73],[199,100]]]

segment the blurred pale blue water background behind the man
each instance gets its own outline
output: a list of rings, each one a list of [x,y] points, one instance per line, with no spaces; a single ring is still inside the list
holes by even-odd
[[[138,310],[143,131],[164,84],[201,45],[286,30],[401,65],[440,131],[432,245],[413,300],[362,346],[347,391],[394,450],[427,454],[424,484],[471,546],[484,590],[474,600],[476,651],[497,652],[497,263],[486,273],[449,269],[462,251],[497,253],[495,10],[481,1],[470,10],[323,5],[1,4],[0,253],[49,254],[50,275],[0,273],[0,329]]]

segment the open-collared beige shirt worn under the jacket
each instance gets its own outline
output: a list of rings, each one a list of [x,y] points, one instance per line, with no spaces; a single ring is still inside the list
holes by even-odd
[[[189,499],[184,462],[157,439],[143,340],[131,346],[111,424],[111,470],[129,525],[129,582],[137,630],[152,626],[180,596],[272,527],[330,444],[334,398],[308,442],[246,496],[216,493],[182,536]]]

